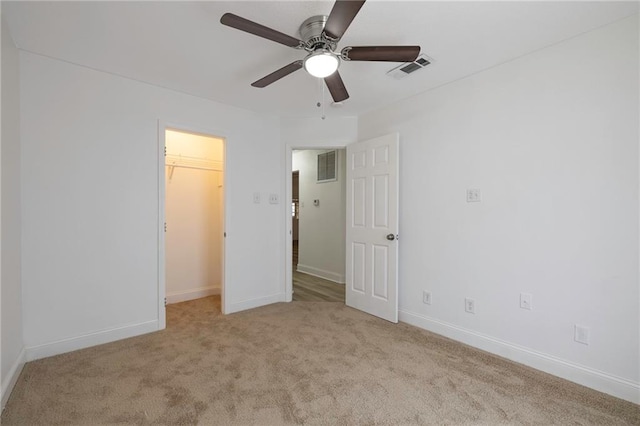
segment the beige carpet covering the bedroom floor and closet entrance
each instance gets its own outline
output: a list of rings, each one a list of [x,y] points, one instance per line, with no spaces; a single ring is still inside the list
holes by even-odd
[[[638,405],[340,303],[219,304],[28,363],[2,424],[640,424]]]

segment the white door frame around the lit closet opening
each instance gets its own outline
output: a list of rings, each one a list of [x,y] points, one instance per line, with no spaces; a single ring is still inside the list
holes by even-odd
[[[163,330],[167,326],[167,316],[165,308],[166,299],[166,236],[164,224],[167,219],[166,215],[166,173],[165,173],[165,144],[166,131],[175,130],[183,133],[192,133],[203,135],[222,140],[222,282],[220,283],[220,300],[221,310],[224,314],[227,311],[225,297],[226,283],[226,218],[227,218],[227,138],[220,136],[224,132],[207,129],[199,126],[188,125],[184,123],[174,123],[164,120],[158,120],[158,329]]]

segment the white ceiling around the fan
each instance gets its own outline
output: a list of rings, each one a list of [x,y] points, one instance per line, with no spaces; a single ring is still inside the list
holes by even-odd
[[[225,12],[299,37],[332,1],[2,2],[29,52],[259,112],[317,116],[322,84],[304,70],[250,84],[304,52],[220,24]],[[359,115],[638,13],[638,2],[368,1],[339,43],[419,44],[435,59],[402,80],[394,63],[343,63],[351,95],[327,116]],[[597,66],[594,60],[594,66]],[[330,95],[326,92],[330,103]]]

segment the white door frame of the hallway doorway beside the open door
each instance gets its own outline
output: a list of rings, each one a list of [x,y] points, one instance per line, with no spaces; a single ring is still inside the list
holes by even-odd
[[[291,199],[293,198],[293,151],[294,150],[331,150],[331,149],[346,149],[347,143],[337,143],[337,144],[310,144],[310,145],[292,145],[287,144],[285,146],[285,200],[287,203],[287,207],[285,209],[285,273],[284,273],[284,295],[285,302],[291,302],[293,300],[293,266],[291,264],[291,260],[293,258],[293,224],[291,223]],[[345,206],[346,210],[346,206]],[[346,256],[346,254],[345,254]],[[346,257],[345,257],[346,261]]]

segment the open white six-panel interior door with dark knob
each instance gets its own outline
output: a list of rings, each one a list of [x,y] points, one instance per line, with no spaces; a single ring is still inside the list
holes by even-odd
[[[398,134],[347,146],[346,304],[398,322]]]

